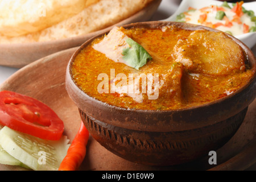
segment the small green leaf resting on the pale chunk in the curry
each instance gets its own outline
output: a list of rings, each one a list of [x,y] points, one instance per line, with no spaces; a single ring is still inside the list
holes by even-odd
[[[128,38],[126,39],[126,42],[130,47],[124,48],[122,55],[123,60],[127,61],[127,64],[129,64],[130,67],[138,70],[139,68],[143,67],[148,60],[152,59],[150,54],[133,39]]]

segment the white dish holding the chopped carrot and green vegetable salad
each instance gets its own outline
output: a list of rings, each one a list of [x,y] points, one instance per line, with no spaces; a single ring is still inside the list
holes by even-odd
[[[196,9],[210,6],[210,5],[222,5],[222,1],[214,1],[214,0],[183,0],[180,3],[179,8],[175,11],[174,14],[172,14],[169,18],[163,19],[162,21],[176,21],[176,16],[180,13],[183,13],[184,11],[188,10],[188,7],[194,7]],[[229,5],[232,5],[232,3],[228,3]],[[243,3],[243,7],[245,7],[246,10],[253,10],[256,15],[256,1],[255,2],[245,2]],[[256,32],[250,32],[247,34],[237,35],[234,36],[235,38],[241,40],[243,43],[246,44],[249,48],[252,48],[254,44],[256,43]]]

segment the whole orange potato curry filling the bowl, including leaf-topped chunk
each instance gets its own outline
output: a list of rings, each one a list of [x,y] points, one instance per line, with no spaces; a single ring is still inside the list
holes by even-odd
[[[241,88],[253,73],[243,49],[223,32],[176,26],[114,27],[72,63],[76,85],[89,96],[144,110],[183,109],[218,100]],[[141,75],[152,77],[145,81]],[[105,92],[99,92],[99,85]],[[129,86],[137,92],[127,92]],[[150,99],[154,92],[157,97]]]

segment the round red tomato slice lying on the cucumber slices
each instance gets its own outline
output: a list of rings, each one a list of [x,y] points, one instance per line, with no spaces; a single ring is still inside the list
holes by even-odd
[[[59,140],[64,123],[46,104],[11,91],[0,92],[0,124],[38,138]]]

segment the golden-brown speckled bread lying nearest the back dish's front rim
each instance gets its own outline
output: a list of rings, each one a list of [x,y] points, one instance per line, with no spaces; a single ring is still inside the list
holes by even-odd
[[[89,1],[89,0],[88,0]],[[0,43],[44,42],[88,34],[111,26],[143,9],[152,0],[90,0],[80,13],[48,28],[13,38],[0,36]],[[73,1],[72,1],[73,2]],[[0,28],[1,29],[1,28]]]

